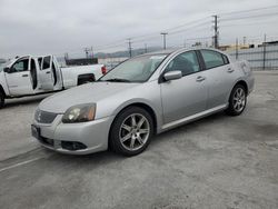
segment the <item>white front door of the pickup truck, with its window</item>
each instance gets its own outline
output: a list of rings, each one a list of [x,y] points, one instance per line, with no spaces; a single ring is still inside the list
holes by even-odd
[[[4,76],[11,96],[33,93],[29,57],[17,60]]]

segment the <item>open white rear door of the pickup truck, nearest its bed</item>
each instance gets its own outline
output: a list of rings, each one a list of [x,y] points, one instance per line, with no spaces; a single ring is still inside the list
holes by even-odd
[[[40,62],[39,80],[41,89],[53,90],[54,76],[52,71],[52,56],[46,56],[38,60]]]

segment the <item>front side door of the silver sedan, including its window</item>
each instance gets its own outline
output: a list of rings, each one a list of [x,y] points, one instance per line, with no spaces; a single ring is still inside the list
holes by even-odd
[[[207,108],[207,81],[203,71],[200,70],[196,51],[175,57],[165,72],[176,70],[181,71],[182,78],[161,83],[165,125],[205,111]]]

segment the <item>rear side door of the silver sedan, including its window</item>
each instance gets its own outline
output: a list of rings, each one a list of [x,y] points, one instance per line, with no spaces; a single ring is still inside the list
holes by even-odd
[[[200,54],[208,80],[208,109],[226,104],[236,79],[235,69],[227,56],[218,51],[203,49]]]

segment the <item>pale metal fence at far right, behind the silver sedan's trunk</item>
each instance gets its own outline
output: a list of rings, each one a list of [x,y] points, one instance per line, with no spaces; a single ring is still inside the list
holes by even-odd
[[[278,70],[278,46],[227,51],[231,58],[249,61],[252,70]]]

